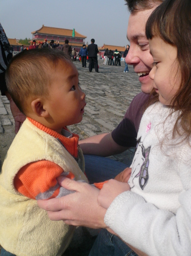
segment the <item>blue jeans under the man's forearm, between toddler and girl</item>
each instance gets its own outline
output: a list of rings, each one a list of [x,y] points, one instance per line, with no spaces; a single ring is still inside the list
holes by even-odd
[[[117,174],[122,172],[129,164],[118,162],[110,158],[96,155],[84,155],[85,172],[90,184],[98,183],[109,179],[114,179]]]

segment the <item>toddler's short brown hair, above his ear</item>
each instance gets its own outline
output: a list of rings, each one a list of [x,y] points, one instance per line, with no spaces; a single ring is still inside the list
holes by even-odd
[[[62,51],[31,49],[15,55],[6,69],[6,85],[12,100],[26,114],[29,96],[48,96],[51,71],[58,63],[69,65],[71,59]]]

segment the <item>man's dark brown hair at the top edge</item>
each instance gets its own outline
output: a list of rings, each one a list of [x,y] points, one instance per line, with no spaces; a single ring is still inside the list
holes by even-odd
[[[159,5],[164,0],[125,0],[131,14],[141,10],[151,9],[154,5]]]

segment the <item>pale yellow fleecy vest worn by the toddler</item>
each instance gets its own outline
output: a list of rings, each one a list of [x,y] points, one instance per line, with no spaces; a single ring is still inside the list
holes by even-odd
[[[75,227],[50,221],[37,201],[14,188],[14,177],[28,163],[49,160],[73,172],[76,180],[86,180],[78,163],[56,138],[34,126],[28,119],[7,152],[0,174],[0,244],[17,256],[62,255]]]

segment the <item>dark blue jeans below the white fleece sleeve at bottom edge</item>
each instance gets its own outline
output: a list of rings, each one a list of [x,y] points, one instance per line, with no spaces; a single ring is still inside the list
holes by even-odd
[[[107,229],[102,229],[89,256],[137,256],[137,254],[120,238],[109,233]]]

